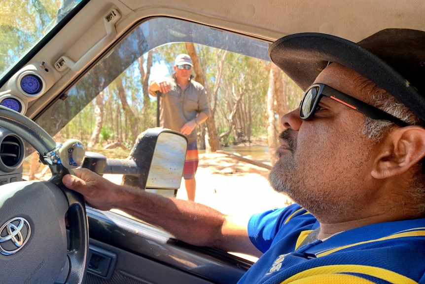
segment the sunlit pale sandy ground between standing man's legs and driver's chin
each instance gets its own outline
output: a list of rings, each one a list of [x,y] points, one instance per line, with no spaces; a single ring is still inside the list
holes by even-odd
[[[199,154],[195,202],[228,214],[241,210],[263,211],[290,204],[287,196],[273,190],[268,175],[266,168],[225,154]],[[177,198],[187,199],[184,182],[177,191]]]

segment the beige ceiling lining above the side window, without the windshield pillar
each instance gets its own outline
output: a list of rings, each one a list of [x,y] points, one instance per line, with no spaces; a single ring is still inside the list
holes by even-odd
[[[384,28],[425,29],[423,0],[122,0],[134,11],[187,17],[260,38],[320,32],[351,41]],[[202,3],[200,5],[200,3]]]

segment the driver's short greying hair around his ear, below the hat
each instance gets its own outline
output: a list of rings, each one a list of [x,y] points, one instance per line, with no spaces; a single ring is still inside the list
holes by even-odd
[[[396,100],[387,91],[378,87],[371,81],[358,80],[358,83],[363,87],[363,92],[370,98],[370,104],[376,108],[383,110],[390,115],[401,119],[411,125],[418,125],[421,123],[420,119],[403,103]],[[394,122],[379,121],[365,116],[363,125],[363,134],[374,142],[378,143],[382,138],[395,127]],[[408,191],[409,197],[417,204],[414,209],[416,214],[425,214],[425,170],[424,159],[413,167],[413,180],[411,182],[411,191]]]

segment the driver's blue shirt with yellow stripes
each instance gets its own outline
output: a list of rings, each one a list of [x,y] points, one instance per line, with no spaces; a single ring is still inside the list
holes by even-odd
[[[425,219],[368,225],[302,245],[318,227],[297,204],[253,215],[248,234],[264,254],[239,284],[425,284]]]

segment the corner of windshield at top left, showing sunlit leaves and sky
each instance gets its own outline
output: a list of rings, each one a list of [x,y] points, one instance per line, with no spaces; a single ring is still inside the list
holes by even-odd
[[[81,1],[0,1],[0,78]]]

